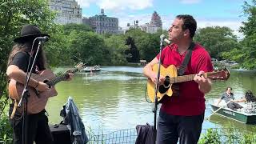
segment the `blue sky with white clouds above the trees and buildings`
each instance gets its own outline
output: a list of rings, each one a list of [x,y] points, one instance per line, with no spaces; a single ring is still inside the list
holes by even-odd
[[[163,29],[167,30],[178,14],[190,14],[198,22],[198,28],[206,26],[227,26],[238,32],[242,22],[246,22],[242,6],[245,0],[77,0],[82,7],[83,17],[100,14],[104,9],[108,17],[118,18],[119,26],[127,23],[138,25],[150,22],[156,11],[162,19]]]

